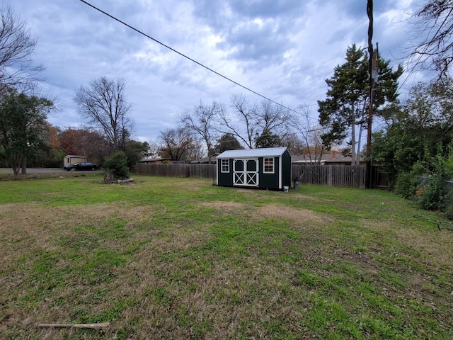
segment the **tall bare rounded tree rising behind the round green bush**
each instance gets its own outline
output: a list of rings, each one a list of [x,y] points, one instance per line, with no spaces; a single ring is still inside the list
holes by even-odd
[[[87,87],[76,90],[74,101],[80,115],[105,136],[113,152],[125,151],[134,123],[129,115],[131,106],[126,100],[124,80],[94,79]]]

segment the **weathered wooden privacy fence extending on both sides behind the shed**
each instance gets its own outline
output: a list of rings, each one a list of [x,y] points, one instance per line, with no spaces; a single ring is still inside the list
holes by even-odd
[[[215,164],[137,164],[137,174],[215,179]],[[365,188],[365,166],[293,165],[292,179],[311,186]]]

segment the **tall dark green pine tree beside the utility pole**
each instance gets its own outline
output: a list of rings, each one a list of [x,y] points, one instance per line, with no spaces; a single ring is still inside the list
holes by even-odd
[[[322,136],[326,149],[333,144],[341,144],[350,136],[350,154],[353,164],[360,161],[360,140],[362,130],[367,128],[369,106],[368,56],[354,44],[346,51],[346,62],[338,65],[331,79],[326,79],[328,91],[325,101],[318,101],[319,123],[328,128]],[[374,95],[374,112],[396,101],[398,77],[401,66],[393,71],[389,61],[378,58],[378,86]],[[358,131],[357,131],[358,128]]]

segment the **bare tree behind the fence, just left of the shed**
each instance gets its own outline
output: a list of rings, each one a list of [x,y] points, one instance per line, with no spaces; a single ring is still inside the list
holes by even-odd
[[[217,140],[217,130],[214,129],[214,123],[216,118],[222,115],[224,115],[222,104],[213,101],[211,105],[205,105],[200,101],[200,104],[195,106],[192,112],[186,112],[180,116],[180,123],[183,123],[185,128],[196,132],[202,137],[207,147],[207,157],[210,163],[212,147],[215,140]]]

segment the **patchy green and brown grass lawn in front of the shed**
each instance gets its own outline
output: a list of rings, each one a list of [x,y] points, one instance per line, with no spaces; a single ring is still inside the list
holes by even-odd
[[[434,213],[385,191],[134,179],[0,181],[0,339],[453,339]]]

